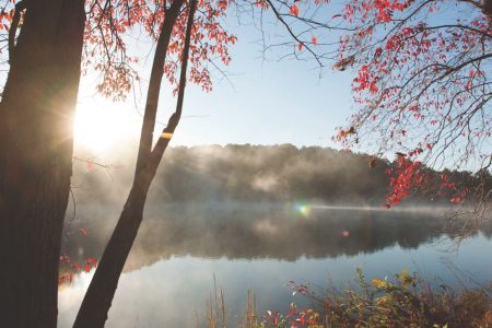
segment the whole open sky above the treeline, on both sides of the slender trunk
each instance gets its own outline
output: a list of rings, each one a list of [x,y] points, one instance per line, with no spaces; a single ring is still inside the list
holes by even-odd
[[[279,61],[284,55],[281,50],[270,51],[263,59],[257,27],[244,20],[239,26],[235,17],[229,19],[227,24],[238,37],[231,48],[232,62],[225,68],[227,79],[215,74],[211,93],[188,84],[183,118],[171,144],[292,143],[339,148],[331,137],[335,128],[345,125],[353,113],[351,72],[328,67],[320,77],[314,59]],[[281,36],[282,28],[267,26],[268,37]],[[328,38],[318,35],[318,39],[321,37]],[[151,59],[150,56],[141,63],[143,70],[149,70]],[[142,80],[147,79],[144,72]],[[85,143],[105,152],[126,147],[124,140],[137,140],[145,92],[145,87],[137,89],[137,99],[130,96],[126,103],[113,104],[94,95],[94,77],[84,78],[75,118],[75,144]],[[174,99],[169,101],[169,87],[164,86],[159,120],[166,122],[172,110]]]

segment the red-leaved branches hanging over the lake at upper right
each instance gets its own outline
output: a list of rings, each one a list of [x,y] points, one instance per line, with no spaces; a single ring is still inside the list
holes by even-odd
[[[421,163],[487,166],[492,26],[484,9],[460,0],[351,0],[341,15],[353,32],[341,37],[335,68],[355,69],[360,110],[350,120],[353,133],[339,128],[336,139],[344,147],[376,139],[377,153],[405,154],[390,173],[387,206],[430,187]],[[445,187],[453,203],[465,200],[468,190]]]

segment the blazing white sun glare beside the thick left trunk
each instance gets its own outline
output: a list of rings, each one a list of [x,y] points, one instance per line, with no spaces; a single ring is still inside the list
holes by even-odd
[[[131,122],[119,109],[107,104],[79,104],[73,124],[74,144],[102,152],[122,142],[128,137]]]

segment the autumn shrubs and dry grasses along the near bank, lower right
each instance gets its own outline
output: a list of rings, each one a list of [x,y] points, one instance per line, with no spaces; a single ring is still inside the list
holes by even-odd
[[[289,286],[307,297],[312,306],[300,309],[291,303],[288,313],[267,311],[258,315],[256,296],[248,291],[247,309],[239,327],[492,327],[492,283],[457,292],[443,284],[432,288],[405,269],[393,280],[373,279],[371,282],[358,269],[353,288],[331,289],[318,295],[303,284],[291,282]],[[207,303],[208,328],[227,327],[222,290],[218,297],[222,301],[216,303],[215,311],[211,298]]]

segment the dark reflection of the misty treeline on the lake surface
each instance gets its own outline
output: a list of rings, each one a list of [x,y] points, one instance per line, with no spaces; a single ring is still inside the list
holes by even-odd
[[[84,226],[90,234],[72,235],[63,248],[72,257],[97,257],[110,229],[101,220]],[[127,270],[173,255],[295,260],[353,256],[394,245],[417,248],[442,236],[443,226],[444,220],[418,212],[314,209],[304,216],[286,206],[256,203],[154,207],[147,211]],[[492,229],[483,233],[491,237]]]

